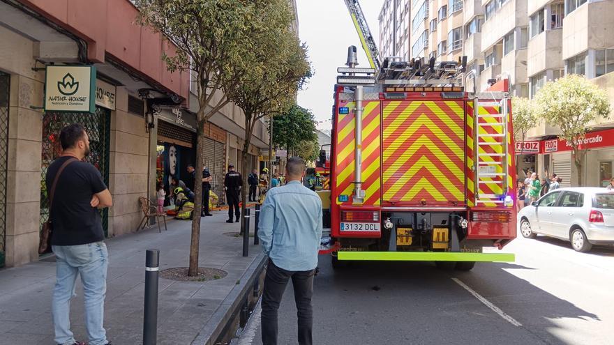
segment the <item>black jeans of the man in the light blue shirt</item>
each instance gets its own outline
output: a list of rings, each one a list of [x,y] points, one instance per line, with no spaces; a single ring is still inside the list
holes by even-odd
[[[313,275],[315,270],[290,271],[278,268],[269,259],[267,275],[264,277],[262,291],[262,344],[277,345],[278,323],[277,311],[288,280],[292,278],[294,287],[294,302],[297,303],[299,325],[299,344],[311,345],[311,330],[313,328]]]

